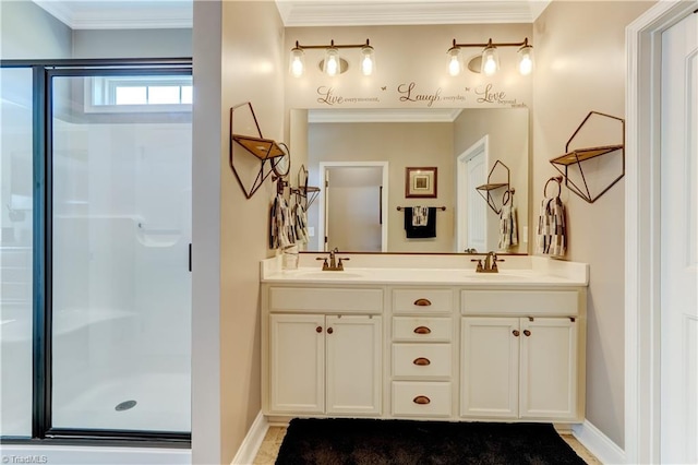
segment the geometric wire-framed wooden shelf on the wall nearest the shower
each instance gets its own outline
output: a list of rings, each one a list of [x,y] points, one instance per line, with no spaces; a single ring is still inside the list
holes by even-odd
[[[238,134],[233,131],[233,112],[240,107],[248,107],[250,109],[250,114],[254,120],[254,126],[257,130],[257,135]],[[233,144],[240,145],[246,152],[257,157],[262,163],[260,170],[257,171],[257,176],[254,178],[254,181],[249,189],[244,186],[244,182],[236,168],[233,160]],[[254,195],[269,175],[274,174],[278,178],[285,178],[290,170],[291,160],[288,147],[282,142],[277,143],[272,139],[265,139],[262,135],[260,123],[257,122],[254,109],[252,108],[252,103],[250,102],[245,102],[244,104],[239,104],[230,108],[229,162],[230,168],[238,180],[238,184],[240,184],[240,188],[242,189],[242,192],[244,192],[246,199],[251,199],[252,195]]]

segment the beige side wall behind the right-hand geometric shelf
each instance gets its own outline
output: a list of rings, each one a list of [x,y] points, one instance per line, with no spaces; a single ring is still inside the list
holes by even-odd
[[[625,26],[653,2],[553,1],[535,21],[533,44],[533,214],[549,160],[591,110],[625,118]],[[624,446],[624,182],[589,204],[563,189],[567,259],[590,264],[587,419]]]

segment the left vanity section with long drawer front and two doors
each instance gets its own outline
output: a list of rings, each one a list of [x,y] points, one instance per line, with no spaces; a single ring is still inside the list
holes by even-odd
[[[267,290],[268,413],[380,416],[382,289]]]

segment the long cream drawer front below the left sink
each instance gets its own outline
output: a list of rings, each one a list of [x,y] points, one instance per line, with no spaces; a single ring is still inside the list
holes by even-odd
[[[383,289],[380,288],[323,288],[270,287],[269,311],[382,313]]]

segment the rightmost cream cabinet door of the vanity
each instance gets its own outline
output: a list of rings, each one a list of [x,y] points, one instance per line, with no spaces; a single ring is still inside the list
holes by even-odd
[[[521,319],[521,418],[578,417],[577,321]]]

